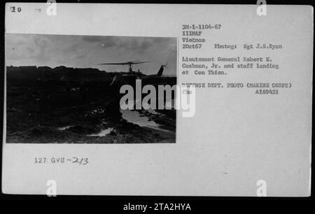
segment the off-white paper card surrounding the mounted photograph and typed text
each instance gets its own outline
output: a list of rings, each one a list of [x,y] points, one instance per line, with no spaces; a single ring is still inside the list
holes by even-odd
[[[183,77],[181,82],[291,82],[279,95],[253,89],[197,90],[196,114],[178,112],[176,144],[3,144],[2,191],[45,194],[256,196],[267,182],[268,196],[309,196],[313,8],[257,6],[57,4],[57,16],[43,4],[14,3],[6,33],[181,37],[182,24],[222,24],[204,33],[202,50],[181,56],[271,56],[277,72],[236,70],[225,77]],[[42,8],[38,13],[35,8]],[[237,50],[214,49],[237,44]],[[273,43],[279,51],[246,51],[242,44]],[[35,165],[35,157],[86,157],[90,164]]]

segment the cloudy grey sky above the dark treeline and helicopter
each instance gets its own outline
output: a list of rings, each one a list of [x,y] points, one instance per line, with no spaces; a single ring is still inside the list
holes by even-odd
[[[6,33],[6,66],[66,66],[127,71],[127,66],[97,63],[153,61],[134,65],[154,74],[167,63],[165,75],[176,75],[176,38],[127,36],[67,36]]]

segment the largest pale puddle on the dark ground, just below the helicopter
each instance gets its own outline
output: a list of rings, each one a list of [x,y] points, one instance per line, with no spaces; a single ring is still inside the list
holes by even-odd
[[[169,130],[160,128],[160,125],[158,123],[155,123],[154,121],[149,121],[148,117],[142,115],[140,116],[139,112],[137,111],[120,109],[120,112],[122,114],[123,119],[130,123],[134,123],[148,128],[153,128],[155,130],[161,130],[163,132],[170,132]]]

